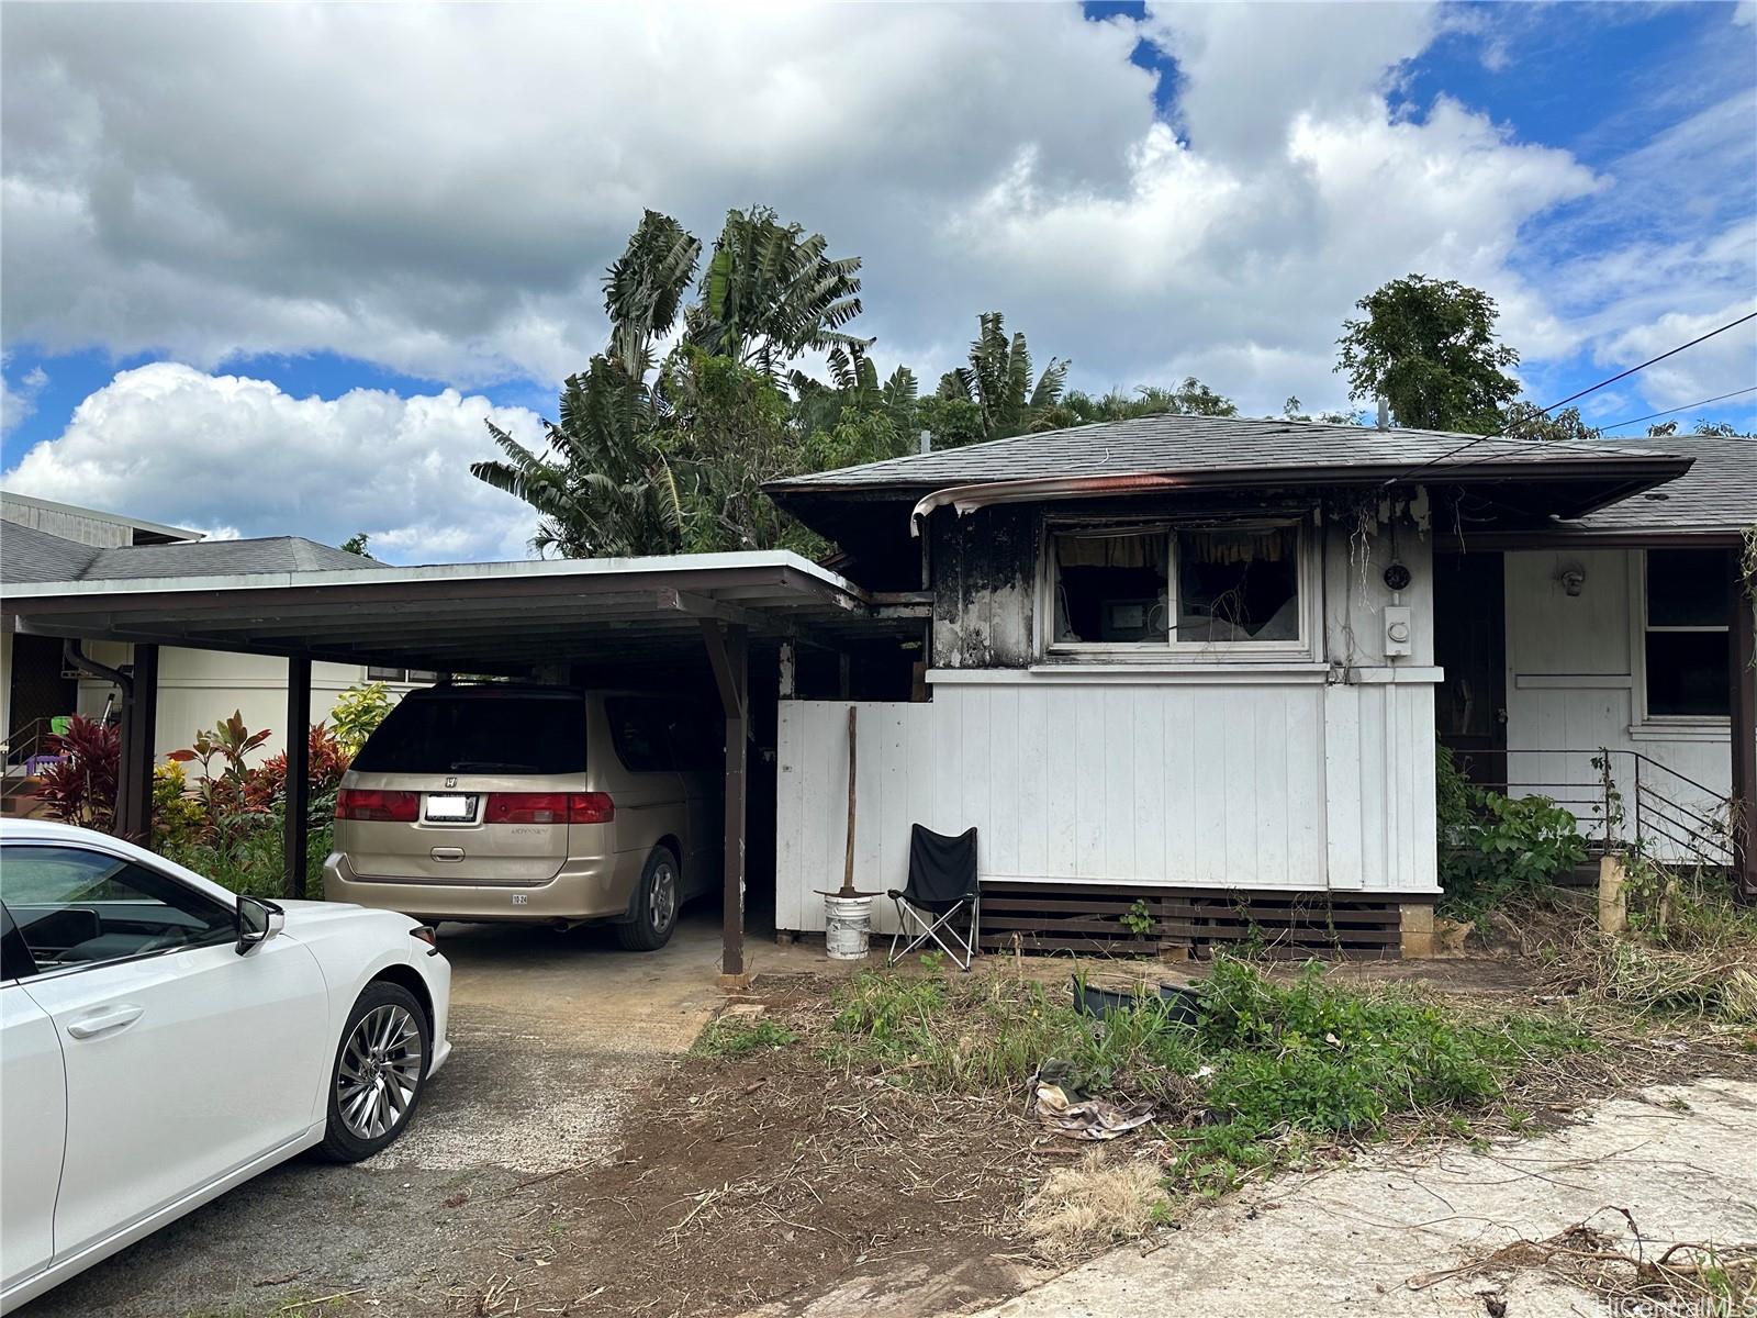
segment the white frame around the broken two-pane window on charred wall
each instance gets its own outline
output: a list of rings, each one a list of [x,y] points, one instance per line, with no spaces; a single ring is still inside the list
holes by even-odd
[[[1179,606],[1181,573],[1177,562],[1177,536],[1182,531],[1277,531],[1291,529],[1295,552],[1295,590],[1298,592],[1298,636],[1295,640],[1240,640],[1240,641],[1184,641],[1177,638],[1174,619],[1167,619],[1165,638],[1139,641],[1065,641],[1056,640],[1056,590],[1059,564],[1058,536],[1079,534],[1142,534],[1165,538],[1167,597]],[[1277,517],[1045,517],[1038,543],[1037,573],[1037,655],[1047,664],[1070,663],[1151,663],[1151,664],[1232,664],[1232,663],[1318,663],[1323,629],[1320,626],[1321,569],[1318,555],[1320,532],[1312,515]]]

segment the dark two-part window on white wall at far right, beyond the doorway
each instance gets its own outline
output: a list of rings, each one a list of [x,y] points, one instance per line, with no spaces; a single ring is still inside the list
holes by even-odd
[[[1731,710],[1731,550],[1648,550],[1643,666],[1650,719]]]

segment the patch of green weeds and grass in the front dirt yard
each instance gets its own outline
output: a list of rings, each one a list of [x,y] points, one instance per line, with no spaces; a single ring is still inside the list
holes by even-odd
[[[1172,1144],[1167,1184],[1223,1193],[1312,1139],[1374,1139],[1393,1118],[1492,1109],[1534,1060],[1590,1047],[1565,1019],[1469,1021],[1392,989],[1270,981],[1230,958],[1202,981],[1197,1025],[1158,998],[1102,1021],[1037,981],[866,972],[835,996],[826,1051],[929,1093],[1019,1093],[1049,1060],[1068,1083],[1149,1102]]]

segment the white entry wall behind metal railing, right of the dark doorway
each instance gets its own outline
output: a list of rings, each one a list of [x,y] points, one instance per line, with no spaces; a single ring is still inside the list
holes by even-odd
[[[1580,573],[1580,594],[1565,578]],[[1729,719],[1643,715],[1643,550],[1520,550],[1506,555],[1508,780],[1515,794],[1555,796],[1601,829],[1599,747],[1639,752],[1690,778],[1648,773],[1645,782],[1708,812],[1732,791]],[[1520,754],[1525,752],[1525,754]],[[1613,754],[1632,836],[1634,768]],[[1523,786],[1520,786],[1523,784]],[[1660,844],[1660,852],[1667,847]]]

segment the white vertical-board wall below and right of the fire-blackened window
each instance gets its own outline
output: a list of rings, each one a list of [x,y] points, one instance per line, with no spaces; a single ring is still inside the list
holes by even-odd
[[[984,879],[1432,894],[1432,545],[1402,520],[1312,536],[1304,657],[929,670],[926,703],[854,703],[854,880],[901,887],[910,824],[979,829]],[[1386,657],[1385,608],[1411,610]],[[777,926],[842,882],[847,701],[782,701]],[[877,928],[893,924],[887,903]]]

